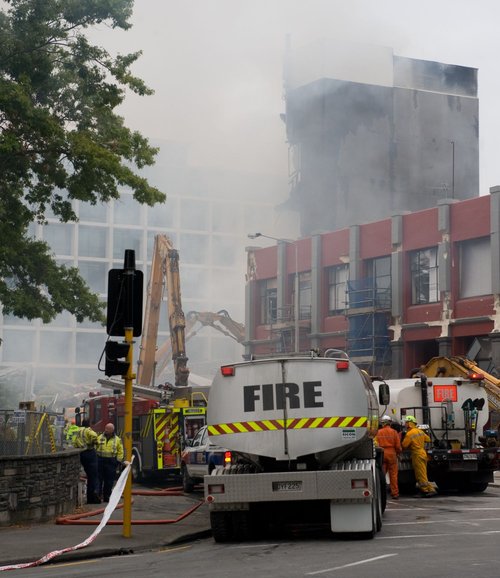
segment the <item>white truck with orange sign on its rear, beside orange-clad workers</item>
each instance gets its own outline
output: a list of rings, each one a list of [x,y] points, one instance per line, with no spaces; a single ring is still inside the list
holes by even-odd
[[[413,415],[427,430],[432,440],[426,448],[428,477],[439,489],[482,492],[499,469],[500,448],[483,443],[489,392],[482,377],[469,373],[430,378],[420,372],[408,379],[385,380],[390,403],[384,413],[400,424]],[[375,385],[380,383],[374,380]],[[409,452],[400,456],[399,486],[402,492],[415,489]]]

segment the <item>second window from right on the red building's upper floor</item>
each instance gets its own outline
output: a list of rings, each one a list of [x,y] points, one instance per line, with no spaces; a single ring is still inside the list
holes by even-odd
[[[410,262],[412,305],[439,301],[436,247],[414,251]]]

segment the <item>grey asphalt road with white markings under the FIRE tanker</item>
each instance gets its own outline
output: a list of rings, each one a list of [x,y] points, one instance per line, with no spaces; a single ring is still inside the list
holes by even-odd
[[[332,540],[324,534],[297,531],[244,544],[216,544],[208,538],[152,553],[16,570],[13,576],[498,576],[499,497],[500,488],[490,487],[474,496],[449,494],[389,501],[382,531],[368,541]]]

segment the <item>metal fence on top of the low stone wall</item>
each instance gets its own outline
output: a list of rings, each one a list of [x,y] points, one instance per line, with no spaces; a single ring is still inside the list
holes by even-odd
[[[0,456],[51,454],[65,447],[62,414],[0,410]]]

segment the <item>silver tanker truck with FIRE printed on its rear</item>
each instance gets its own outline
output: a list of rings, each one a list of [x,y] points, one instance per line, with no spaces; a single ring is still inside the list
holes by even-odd
[[[388,403],[385,384],[379,398]],[[214,539],[301,522],[372,538],[386,499],[378,402],[369,376],[336,350],[221,367],[207,426],[232,460],[204,479]]]

